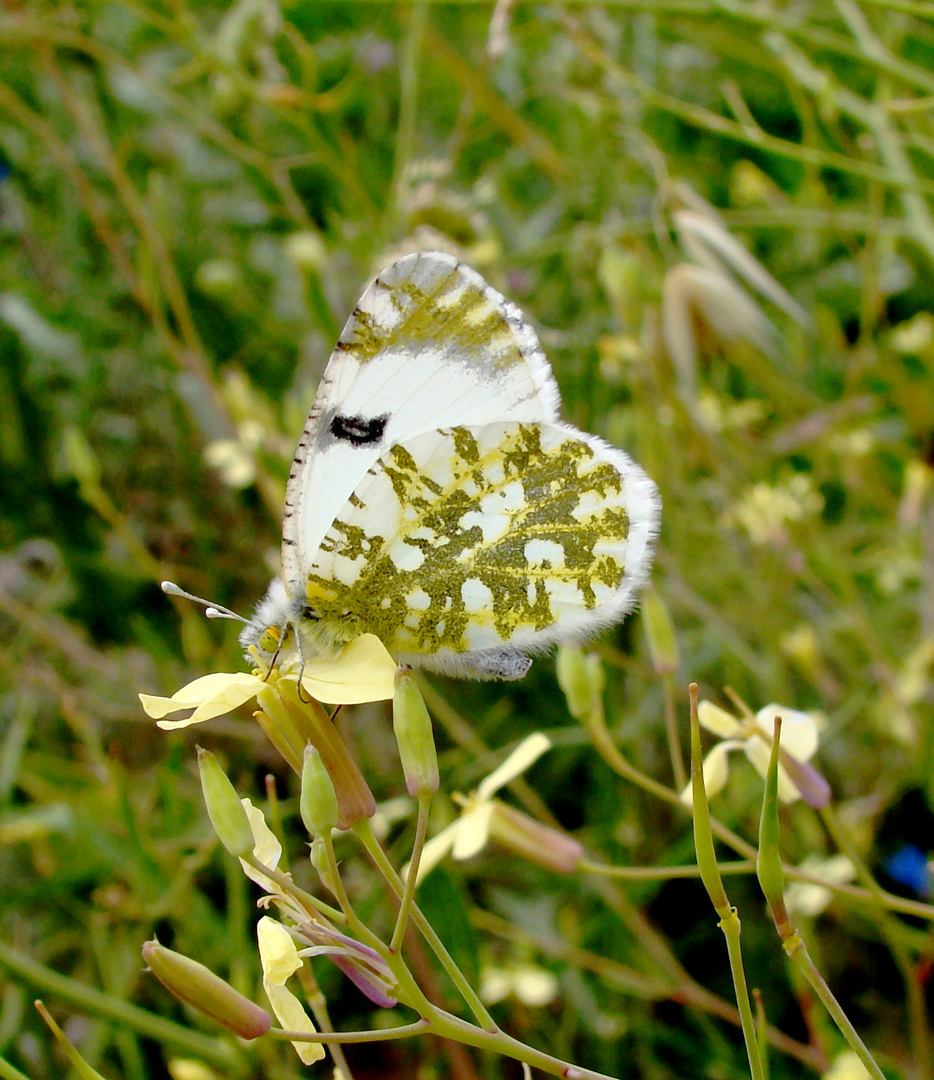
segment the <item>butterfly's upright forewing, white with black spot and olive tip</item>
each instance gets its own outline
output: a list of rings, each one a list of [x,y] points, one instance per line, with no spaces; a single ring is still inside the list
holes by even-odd
[[[550,422],[559,396],[519,309],[450,255],[409,255],[361,297],[328,361],[286,490],[282,566],[301,595],[335,514],[391,446],[451,424]]]

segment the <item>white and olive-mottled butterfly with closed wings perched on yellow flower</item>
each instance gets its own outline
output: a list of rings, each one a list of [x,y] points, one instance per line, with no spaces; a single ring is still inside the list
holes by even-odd
[[[393,262],[328,360],[285,496],[282,573],[240,635],[263,663],[376,634],[400,662],[522,678],[620,621],[658,490],[558,417],[519,309],[450,255]]]

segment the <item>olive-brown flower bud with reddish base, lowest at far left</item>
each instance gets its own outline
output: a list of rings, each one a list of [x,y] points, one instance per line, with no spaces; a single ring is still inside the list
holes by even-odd
[[[272,1017],[239,994],[202,963],[175,953],[157,941],[146,942],[143,959],[160,983],[179,1001],[216,1020],[241,1039],[266,1035]]]

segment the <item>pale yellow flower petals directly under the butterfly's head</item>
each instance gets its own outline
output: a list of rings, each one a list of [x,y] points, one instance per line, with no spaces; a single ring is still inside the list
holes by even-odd
[[[306,693],[328,705],[356,705],[365,701],[384,701],[393,694],[395,661],[373,634],[354,638],[336,658],[315,658],[304,661],[301,686]],[[276,672],[278,678],[297,679],[298,665],[289,664]],[[202,675],[184,686],[171,698],[140,693],[139,701],[146,713],[159,720],[165,730],[187,728],[216,716],[224,716],[239,705],[271,693],[272,680],[249,672],[216,672]],[[193,710],[180,720],[163,717],[182,708]]]

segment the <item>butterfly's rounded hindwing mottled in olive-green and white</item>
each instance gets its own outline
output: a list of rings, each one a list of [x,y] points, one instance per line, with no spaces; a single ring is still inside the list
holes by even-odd
[[[459,424],[391,446],[338,513],[307,575],[325,636],[377,634],[396,656],[464,669],[622,617],[647,567],[654,485],[561,423]]]

